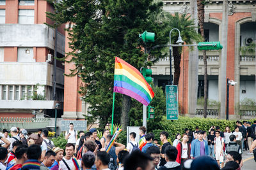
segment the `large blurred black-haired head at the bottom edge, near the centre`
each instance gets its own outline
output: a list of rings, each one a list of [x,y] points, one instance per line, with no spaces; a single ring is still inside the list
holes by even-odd
[[[154,169],[153,160],[146,153],[134,151],[125,159],[124,170],[152,170]]]

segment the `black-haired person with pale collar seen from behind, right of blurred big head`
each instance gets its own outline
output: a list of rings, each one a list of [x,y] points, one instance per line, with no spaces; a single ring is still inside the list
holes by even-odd
[[[167,170],[167,169],[173,169],[173,170],[180,170],[180,164],[178,162],[175,162],[177,159],[178,151],[175,148],[175,146],[166,146],[165,148],[165,160],[166,164],[164,166],[160,167],[159,170]]]

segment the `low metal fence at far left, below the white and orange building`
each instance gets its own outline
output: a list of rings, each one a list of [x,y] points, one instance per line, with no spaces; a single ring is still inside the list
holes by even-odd
[[[0,129],[10,130],[12,127],[20,129],[41,129],[49,125],[50,118],[12,118],[2,117],[0,119]]]

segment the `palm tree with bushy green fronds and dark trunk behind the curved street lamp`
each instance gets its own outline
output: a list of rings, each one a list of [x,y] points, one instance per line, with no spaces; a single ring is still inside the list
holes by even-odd
[[[166,34],[173,28],[177,28],[180,31],[180,36],[182,40],[186,44],[192,44],[192,42],[200,41],[202,37],[195,31],[194,21],[190,19],[190,15],[186,13],[179,15],[179,13],[175,13],[175,15],[167,15],[166,22],[168,22],[168,27],[166,28]],[[169,31],[169,32],[168,32]],[[174,44],[179,37],[177,31],[172,32],[172,44]],[[173,46],[173,59],[174,59],[174,78],[173,84],[178,85],[180,78],[180,57],[182,48],[181,46]]]

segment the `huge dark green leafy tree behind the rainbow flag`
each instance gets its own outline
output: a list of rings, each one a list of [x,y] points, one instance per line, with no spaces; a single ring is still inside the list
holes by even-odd
[[[164,24],[157,24],[150,19],[155,11],[161,11],[162,2],[152,0],[63,0],[55,6],[55,13],[48,17],[55,21],[54,26],[68,23],[70,39],[66,62],[72,62],[76,68],[70,70],[68,76],[79,75],[85,87],[80,92],[84,100],[90,103],[90,122],[100,121],[104,127],[111,120],[113,102],[113,73],[115,57],[118,56],[140,69],[141,66],[152,64],[141,49],[143,43],[138,41],[138,34],[147,30],[156,32],[156,41],[147,46],[166,44]],[[154,50],[152,55],[163,57],[161,48]],[[131,98],[116,95],[115,124],[120,121],[121,106],[123,127],[129,124],[127,113],[131,107]],[[136,101],[137,102],[137,101]],[[138,103],[138,102],[137,102]]]

